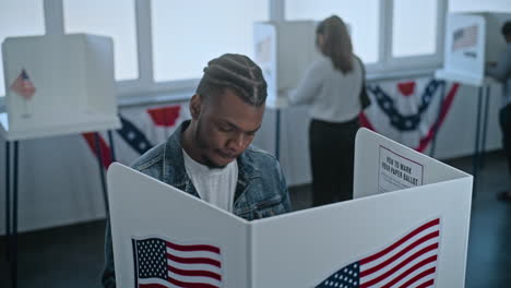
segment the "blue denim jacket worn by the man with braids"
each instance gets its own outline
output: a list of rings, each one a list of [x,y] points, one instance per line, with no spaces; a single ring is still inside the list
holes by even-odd
[[[135,160],[132,168],[200,197],[187,175],[182,158],[181,134],[189,123],[190,121],[183,122],[166,143],[146,152]],[[253,220],[290,212],[286,181],[275,157],[248,147],[237,161],[238,181],[233,204],[235,215]],[[109,223],[106,228],[102,281],[104,287],[116,287]]]

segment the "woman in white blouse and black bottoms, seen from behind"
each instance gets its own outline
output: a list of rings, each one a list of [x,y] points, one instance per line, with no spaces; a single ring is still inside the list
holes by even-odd
[[[338,16],[316,31],[321,57],[289,96],[293,105],[310,105],[309,148],[314,206],[353,197],[355,134],[364,68],[353,53],[346,25]]]

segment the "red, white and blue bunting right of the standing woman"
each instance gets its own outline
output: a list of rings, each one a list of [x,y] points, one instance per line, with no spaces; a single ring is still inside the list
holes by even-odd
[[[417,79],[369,84],[371,106],[360,113],[364,127],[424,152],[449,113],[457,83]]]

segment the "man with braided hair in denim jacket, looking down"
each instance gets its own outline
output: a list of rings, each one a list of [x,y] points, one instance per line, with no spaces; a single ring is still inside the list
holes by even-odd
[[[290,212],[278,161],[250,146],[265,99],[266,82],[250,58],[223,55],[211,60],[190,100],[192,119],[132,168],[247,220]],[[116,287],[108,223],[105,240],[102,281]]]

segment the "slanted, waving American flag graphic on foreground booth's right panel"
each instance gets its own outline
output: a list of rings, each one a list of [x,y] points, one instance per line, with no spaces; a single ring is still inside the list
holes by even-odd
[[[408,232],[381,251],[354,262],[317,287],[435,287],[440,245],[440,219]]]

